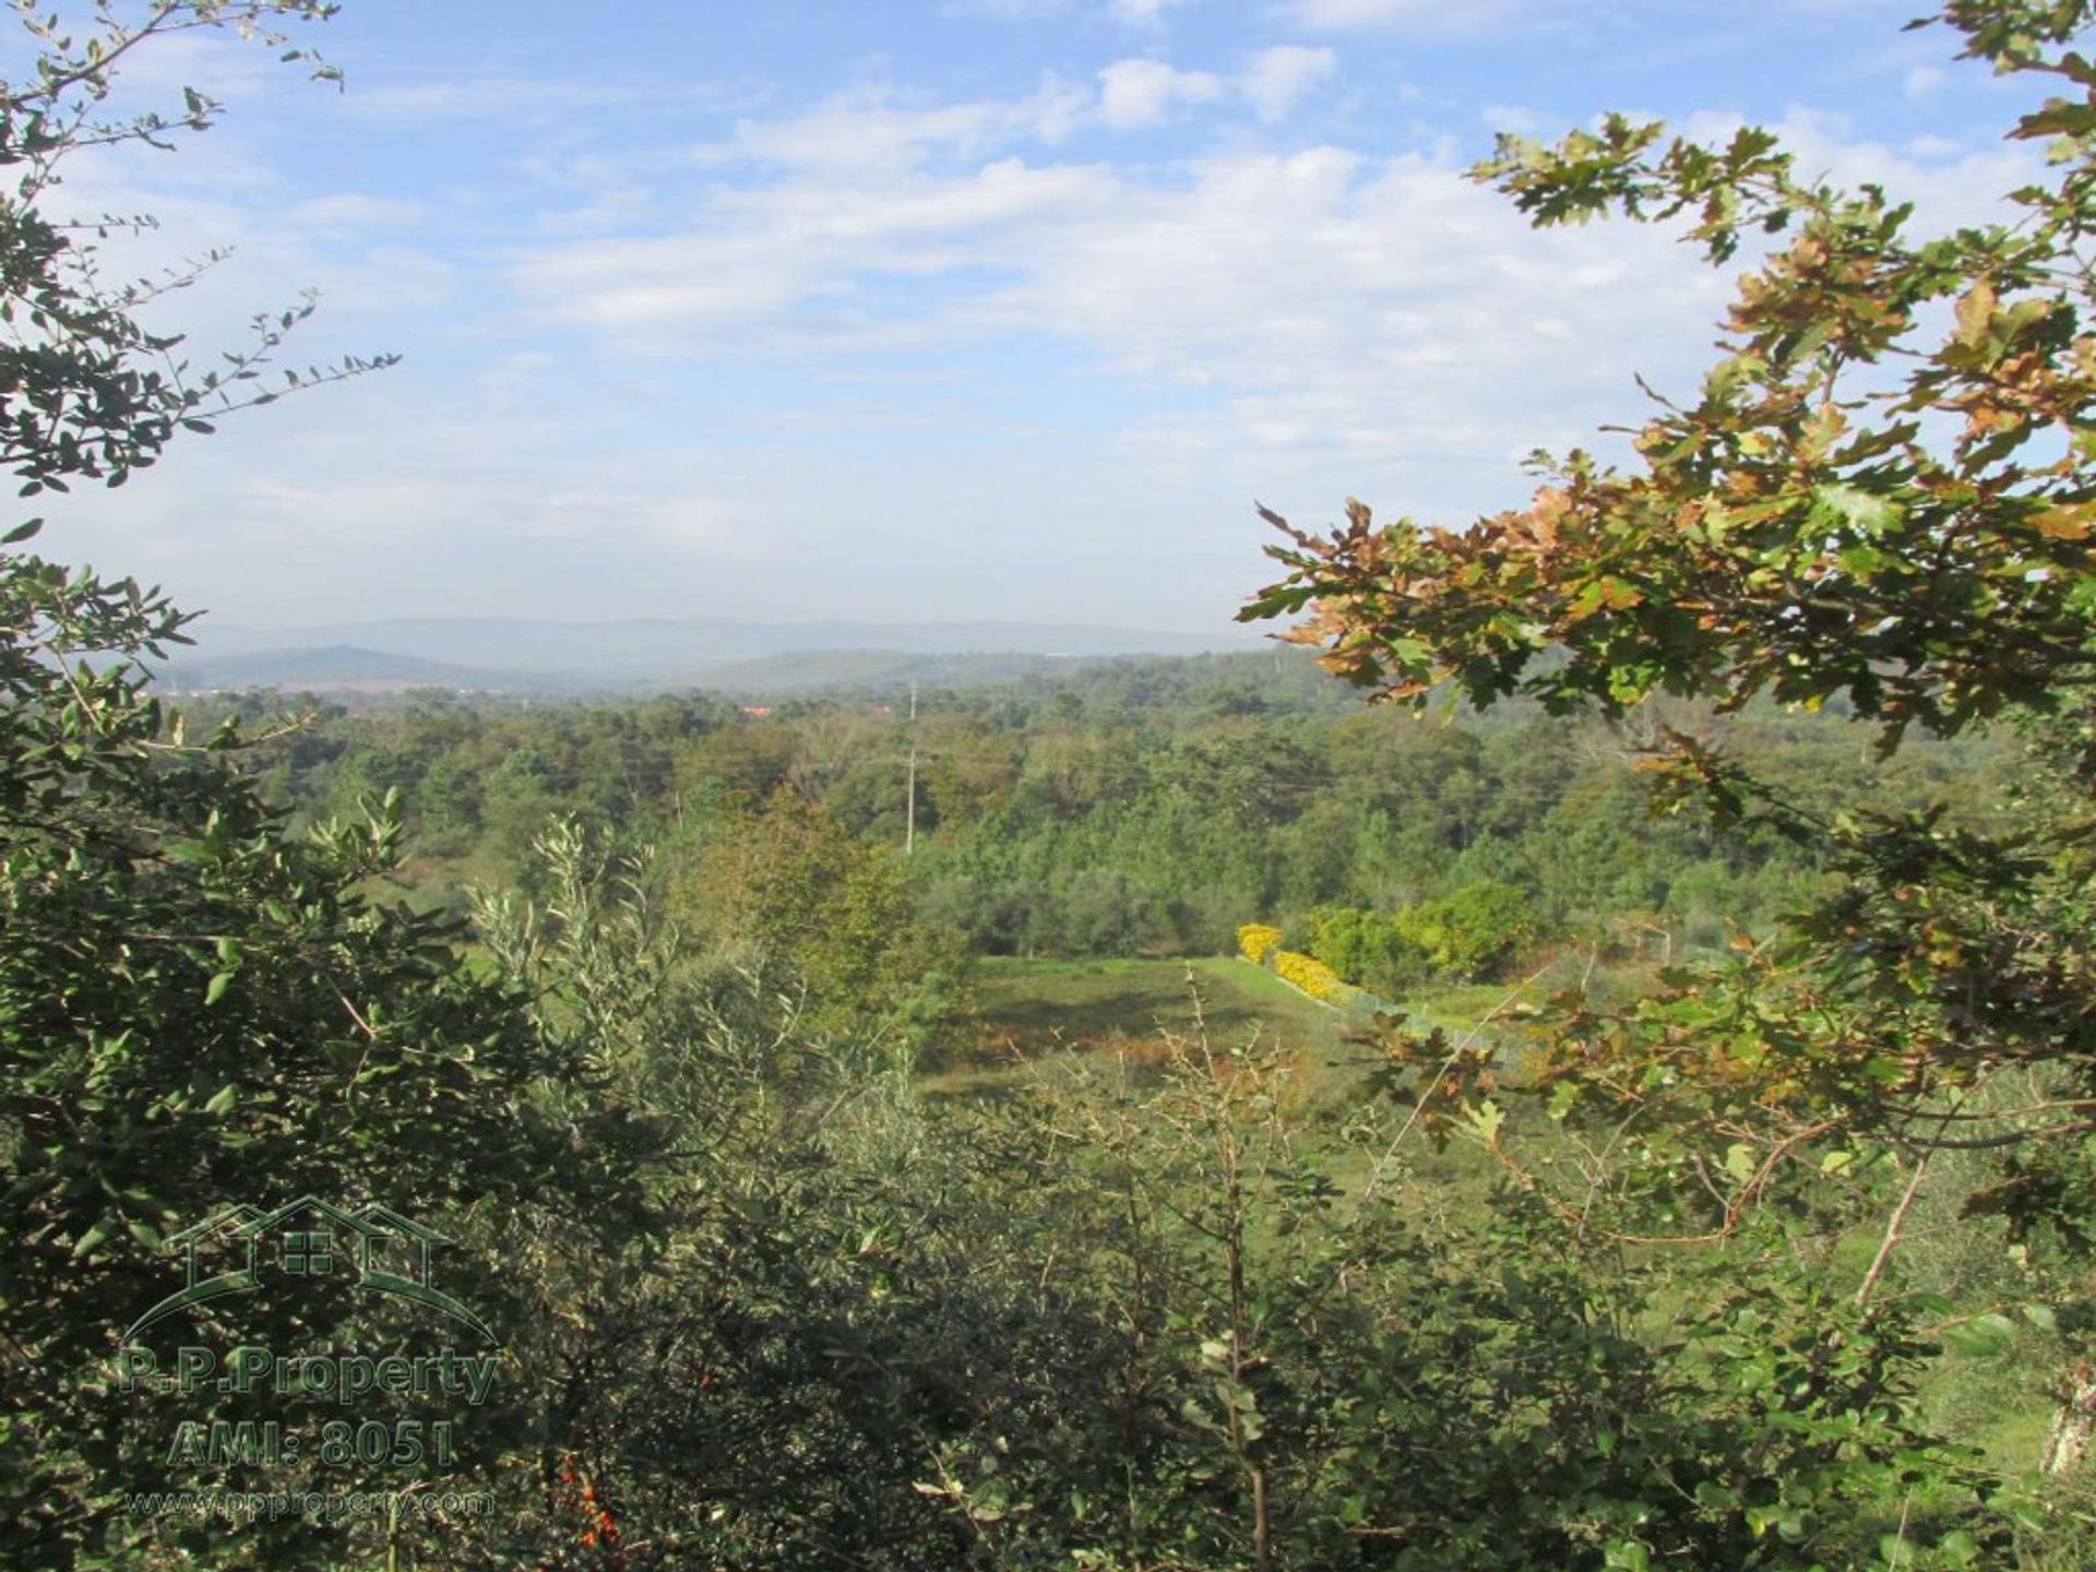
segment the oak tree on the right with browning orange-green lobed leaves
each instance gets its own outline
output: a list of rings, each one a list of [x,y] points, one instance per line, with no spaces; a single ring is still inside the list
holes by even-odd
[[[1993,822],[1947,801],[1828,815],[1698,727],[1656,727],[1660,803],[1817,849],[1832,887],[1733,962],[1603,1010],[1562,1002],[1534,1090],[1635,1128],[1614,1226],[1723,1237],[1790,1178],[1895,1176],[1882,1247],[1933,1155],[2000,1157],[1972,1205],[2073,1253],[2096,1207],[2096,65],[2081,0],[1949,0],[1964,59],[2060,96],[2010,136],[2050,149],[2004,222],[1914,237],[1884,191],[1800,178],[1777,138],[1717,147],[1610,117],[1476,170],[1538,224],[1685,222],[1712,264],[1752,247],[1702,390],[1660,402],[1635,461],[1538,455],[1545,484],[1467,530],[1375,524],[1287,537],[1247,610],[1310,610],[1289,637],[1385,698],[1620,717],[1654,696],[1849,706],[1884,752],[1916,729],[2014,723],[2033,742]],[[1400,1040],[1463,1100],[1490,1067]],[[1446,1107],[1446,1105],[1444,1105]],[[1486,1128],[1499,1132],[1490,1105]],[[1494,1140],[1503,1136],[1494,1134]],[[1589,1176],[1591,1178],[1591,1176]],[[1534,1172],[1524,1182],[1549,1193]],[[1593,1222],[1595,1195],[1564,1197]],[[2062,1258],[2065,1260],[2065,1258]],[[2029,1285],[2081,1302],[2086,1268]]]

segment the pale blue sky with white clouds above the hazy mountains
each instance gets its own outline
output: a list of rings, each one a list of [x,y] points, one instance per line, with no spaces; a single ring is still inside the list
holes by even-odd
[[[1528,228],[1465,178],[1494,132],[1761,122],[1924,226],[1997,214],[2029,90],[1918,8],[346,0],[302,29],[340,90],[168,40],[113,107],[224,119],[50,205],[155,214],[111,277],[231,252],[149,319],[197,365],[308,287],[298,363],[402,358],[40,501],[40,549],[247,627],[1224,631],[1256,501],[1463,524],[1712,358],[1725,277]]]

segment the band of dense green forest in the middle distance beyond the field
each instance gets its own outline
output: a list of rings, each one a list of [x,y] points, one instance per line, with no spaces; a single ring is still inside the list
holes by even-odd
[[[1249,920],[1478,885],[1520,891],[1538,935],[1643,922],[1715,947],[1794,905],[1821,868],[1782,836],[1654,811],[1650,717],[1369,711],[1302,656],[926,692],[914,723],[895,690],[776,706],[308,704],[312,725],[258,750],[264,786],[306,822],[396,790],[413,878],[434,893],[514,880],[553,813],[673,861],[801,809],[876,857],[901,853],[914,746],[916,845],[895,876],[918,920],[989,956],[1226,954]],[[300,702],[258,694],[247,708]],[[2021,757],[2006,738],[1922,738],[1880,761],[1857,725],[1773,706],[1719,729],[1826,811],[1945,799],[1981,824]]]

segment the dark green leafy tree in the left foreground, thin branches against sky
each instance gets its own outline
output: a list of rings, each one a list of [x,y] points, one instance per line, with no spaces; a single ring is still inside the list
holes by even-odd
[[[178,430],[277,396],[260,375],[310,302],[258,321],[226,369],[197,375],[138,314],[187,275],[105,291],[92,226],[54,218],[48,199],[80,149],[170,147],[216,115],[184,90],[178,115],[101,119],[117,63],[199,27],[308,59],[275,23],[329,10],[155,0],[124,21],[96,4],[75,40],[21,6],[40,57],[0,84],[0,166],[15,174],[0,193],[0,459],[23,495],[124,484]],[[166,1436],[147,1448],[147,1415],[109,1383],[126,1323],[168,1291],[163,1239],[304,1193],[461,1218],[528,1195],[528,1228],[564,1197],[616,1209],[631,1186],[597,1155],[616,1149],[595,1140],[599,1109],[551,1117],[545,1088],[576,1067],[532,1031],[522,998],[467,970],[455,926],[365,895],[398,853],[398,820],[287,834],[241,769],[239,723],[193,742],[147,687],[140,658],[189,618],[132,581],[21,551],[36,530],[15,526],[0,551],[0,1541],[13,1566],[128,1564],[147,1545],[214,1566],[312,1566],[384,1520],[122,1511],[124,1490],[197,1478],[163,1461]],[[484,1314],[507,1323],[516,1289],[497,1279]],[[235,1314],[210,1312],[220,1329]],[[262,1331],[325,1337],[342,1310],[270,1314]],[[205,1398],[184,1417],[218,1413]]]

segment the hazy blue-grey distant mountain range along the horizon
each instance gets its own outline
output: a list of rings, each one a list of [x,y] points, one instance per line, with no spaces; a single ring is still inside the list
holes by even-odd
[[[868,681],[1023,675],[1052,660],[1258,648],[1209,637],[1048,623],[551,623],[400,618],[302,629],[193,625],[159,671],[176,692],[291,687],[528,694],[719,687],[790,692]]]

